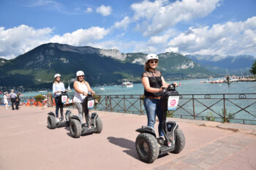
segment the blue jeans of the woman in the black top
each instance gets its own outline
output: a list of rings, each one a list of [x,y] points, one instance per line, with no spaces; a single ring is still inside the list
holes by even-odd
[[[160,123],[160,120],[162,119],[162,107],[160,106],[160,99],[145,98],[144,107],[146,109],[146,113],[148,117],[148,126],[151,128],[154,128],[154,124],[156,123],[156,115],[157,115],[159,120],[158,133],[159,133],[159,136],[164,136],[164,133],[162,131],[162,123]]]

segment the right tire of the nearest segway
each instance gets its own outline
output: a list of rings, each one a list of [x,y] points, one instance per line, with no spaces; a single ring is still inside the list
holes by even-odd
[[[179,153],[181,150],[184,149],[186,144],[186,139],[181,131],[181,129],[177,128],[175,131],[175,149],[172,151],[172,153]]]

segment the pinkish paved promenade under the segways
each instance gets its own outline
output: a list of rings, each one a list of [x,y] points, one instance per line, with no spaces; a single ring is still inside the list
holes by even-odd
[[[54,108],[0,107],[1,170],[256,169],[256,125],[172,119],[184,132],[184,150],[148,164],[135,150],[135,130],[146,125],[145,115],[98,112],[102,133],[74,139],[67,127],[47,128],[50,111]]]

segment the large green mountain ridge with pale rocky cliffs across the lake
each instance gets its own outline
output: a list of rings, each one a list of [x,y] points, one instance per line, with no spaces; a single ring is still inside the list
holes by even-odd
[[[52,88],[53,76],[62,75],[66,83],[83,70],[91,85],[121,84],[124,79],[140,82],[144,53],[120,53],[94,47],[73,47],[49,43],[19,55],[12,60],[0,60],[1,86]],[[212,75],[191,59],[177,53],[159,54],[159,70],[166,79],[197,78]]]

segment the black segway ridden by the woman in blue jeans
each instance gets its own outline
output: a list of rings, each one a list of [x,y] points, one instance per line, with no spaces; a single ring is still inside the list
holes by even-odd
[[[178,105],[178,92],[175,85],[169,85],[167,89],[163,90],[164,95],[160,99],[163,115],[162,130],[165,139],[157,138],[154,128],[142,126],[136,131],[140,134],[136,138],[135,147],[139,158],[146,163],[153,163],[159,155],[164,155],[167,152],[179,153],[184,149],[185,137],[178,124],[175,121],[166,122],[167,110],[175,110]]]

